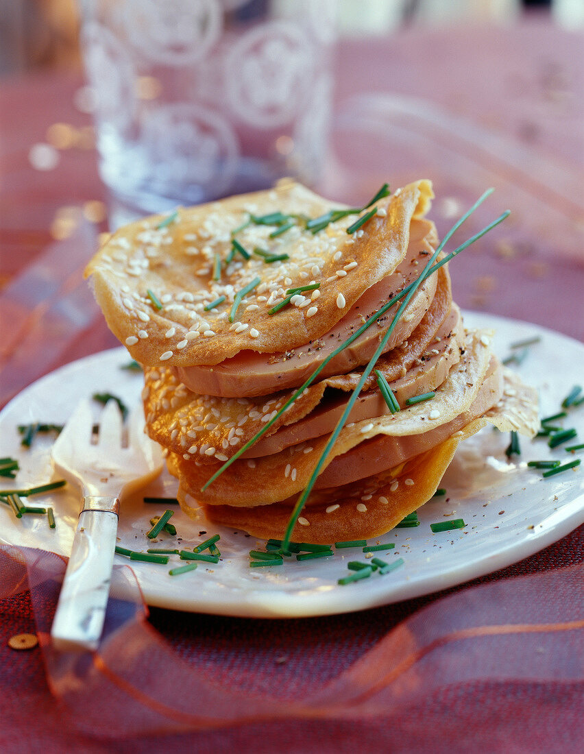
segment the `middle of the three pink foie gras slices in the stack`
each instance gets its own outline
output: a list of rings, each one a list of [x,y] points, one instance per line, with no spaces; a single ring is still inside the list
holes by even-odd
[[[396,382],[391,382],[390,387],[400,405],[404,405],[408,398],[420,395],[428,391],[436,390],[448,376],[451,367],[460,359],[460,347],[464,342],[464,328],[460,310],[456,305],[451,309],[435,335],[439,338],[433,353],[428,354],[423,362],[423,367],[416,367]],[[383,360],[378,362],[378,369],[383,373]],[[359,375],[355,375],[356,384]],[[263,437],[249,450],[243,453],[242,458],[258,458],[261,455],[271,455],[291,445],[297,445],[323,434],[330,434],[341,418],[347,405],[348,394],[335,394],[330,400],[324,400],[316,406],[308,415],[296,421],[292,425],[280,428],[274,434]],[[374,418],[390,413],[384,398],[378,390],[368,390],[362,393],[356,400],[353,409],[347,417],[347,424],[351,421]]]

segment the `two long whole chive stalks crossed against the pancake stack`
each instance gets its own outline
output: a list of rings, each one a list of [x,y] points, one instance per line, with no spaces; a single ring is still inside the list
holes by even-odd
[[[294,510],[292,510],[292,514],[290,516],[290,520],[288,523],[288,526],[286,527],[286,543],[289,542],[290,534],[292,532],[292,528],[295,525],[295,520],[299,515],[300,510],[304,506],[304,501],[306,500],[307,496],[310,494],[310,490],[312,489],[312,486],[314,484],[314,480],[316,480],[316,477],[318,474],[320,474],[320,470],[323,465],[323,458],[326,457],[326,455],[329,453],[330,448],[332,447],[332,444],[336,442],[338,434],[341,431],[341,428],[344,426],[344,422],[347,419],[347,415],[350,412],[350,410],[353,408],[353,404],[355,403],[356,396],[361,391],[362,385],[365,382],[365,379],[367,379],[368,375],[371,373],[371,369],[373,369],[373,366],[375,365],[376,361],[378,360],[379,355],[383,352],[383,349],[385,348],[385,345],[387,343],[387,340],[390,338],[391,333],[393,333],[393,329],[395,329],[395,326],[397,324],[397,321],[399,320],[399,317],[401,317],[402,312],[404,311],[405,307],[408,305],[408,303],[411,300],[411,297],[414,296],[414,293],[417,290],[417,287],[423,282],[423,280],[426,280],[427,277],[430,277],[430,275],[434,274],[436,271],[438,271],[442,266],[445,264],[448,264],[451,259],[454,259],[455,256],[458,256],[458,254],[462,253],[465,249],[467,249],[469,246],[475,243],[475,241],[478,241],[479,238],[482,238],[486,233],[491,231],[493,228],[495,228],[497,225],[500,224],[500,222],[503,222],[506,217],[509,216],[510,212],[509,210],[506,210],[505,212],[501,213],[500,216],[498,216],[496,219],[494,219],[492,222],[490,222],[488,225],[485,225],[482,230],[480,230],[478,233],[475,233],[471,238],[468,238],[466,241],[463,242],[463,244],[460,244],[454,251],[451,251],[448,254],[445,254],[445,256],[442,257],[442,259],[439,260],[439,262],[436,262],[437,256],[439,256],[440,253],[442,253],[442,249],[445,247],[445,244],[450,240],[452,235],[455,231],[457,231],[458,228],[460,228],[460,225],[465,222],[466,219],[477,209],[477,207],[482,204],[483,201],[485,201],[486,198],[488,198],[489,195],[493,192],[493,189],[488,189],[477,201],[475,201],[475,204],[470,207],[469,210],[464,213],[464,215],[457,220],[457,222],[454,223],[452,228],[445,234],[444,238],[442,238],[442,241],[440,242],[439,246],[436,248],[435,252],[432,256],[430,256],[430,259],[427,262],[427,265],[423,268],[420,277],[417,278],[417,280],[414,280],[411,284],[407,285],[402,291],[396,294],[396,296],[393,296],[387,303],[385,303],[375,314],[373,314],[369,319],[362,324],[358,329],[355,330],[354,333],[352,333],[341,345],[338,345],[337,348],[335,348],[324,360],[323,363],[320,364],[317,369],[314,370],[314,372],[310,375],[310,377],[295,391],[294,394],[292,394],[291,397],[289,397],[288,400],[286,400],[286,403],[283,404],[283,406],[278,410],[276,415],[274,415],[273,418],[270,419],[270,421],[267,421],[263,428],[261,428],[260,431],[258,431],[254,437],[252,437],[250,440],[248,440],[243,446],[240,447],[237,452],[234,453],[234,455],[229,458],[228,461],[225,461],[224,464],[209,477],[208,480],[203,484],[201,487],[201,491],[204,491],[209,487],[209,485],[213,484],[213,482],[224,473],[225,470],[227,470],[231,464],[234,463],[234,461],[237,460],[237,458],[240,458],[240,455],[242,455],[244,452],[246,452],[247,449],[249,449],[254,443],[256,443],[261,437],[268,432],[268,430],[274,425],[274,423],[280,418],[281,415],[289,408],[289,406],[294,403],[294,401],[298,398],[298,396],[306,390],[312,383],[316,380],[318,375],[320,375],[320,372],[323,371],[323,369],[326,368],[326,366],[329,364],[329,362],[335,358],[338,354],[340,354],[342,351],[344,351],[347,346],[349,346],[351,343],[353,343],[359,336],[362,335],[362,333],[365,332],[369,327],[371,327],[375,322],[379,320],[381,316],[385,314],[386,311],[388,311],[390,308],[395,306],[397,302],[402,302],[399,305],[399,308],[396,312],[396,314],[393,317],[393,322],[390,325],[390,327],[387,329],[384,337],[381,339],[381,343],[378,346],[377,351],[375,351],[375,354],[373,357],[371,357],[370,363],[368,363],[368,366],[365,367],[364,373],[361,376],[361,379],[359,379],[359,384],[356,385],[356,388],[353,389],[353,394],[351,394],[351,397],[347,401],[347,406],[344,409],[343,415],[341,416],[340,420],[338,421],[338,425],[335,428],[335,430],[332,432],[331,436],[329,437],[329,441],[327,443],[326,449],[323,451],[323,456],[320,458],[320,461],[316,464],[315,470],[313,471],[312,477],[310,477],[310,480],[307,484],[306,489],[301,495],[301,498],[298,499],[297,503],[295,504]]]

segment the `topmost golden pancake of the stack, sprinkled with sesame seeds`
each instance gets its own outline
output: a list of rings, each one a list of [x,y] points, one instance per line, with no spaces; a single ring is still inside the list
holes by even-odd
[[[323,336],[395,270],[408,249],[411,220],[423,217],[432,197],[429,181],[411,183],[378,201],[375,216],[355,233],[347,228],[359,212],[313,233],[302,219],[339,205],[280,182],[271,191],[133,222],[109,238],[85,274],[110,329],[139,363],[212,366],[245,350],[283,352]],[[274,213],[292,218],[285,232],[283,225],[246,225],[251,216]],[[237,241],[249,259],[234,253],[228,262],[242,225]],[[266,263],[255,249],[283,258]],[[235,296],[256,278],[230,321]],[[268,314],[286,290],[310,280],[320,281],[313,305]],[[224,302],[205,311],[221,296]]]

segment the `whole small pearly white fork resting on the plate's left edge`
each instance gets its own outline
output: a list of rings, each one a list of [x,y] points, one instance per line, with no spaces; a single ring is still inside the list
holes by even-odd
[[[81,487],[81,510],[65,580],[50,635],[59,650],[97,648],[108,602],[118,533],[120,500],[160,474],[161,449],[144,434],[142,407],[128,419],[127,447],[122,447],[123,419],[109,400],[91,443],[93,415],[81,400],[54,443],[55,470]]]

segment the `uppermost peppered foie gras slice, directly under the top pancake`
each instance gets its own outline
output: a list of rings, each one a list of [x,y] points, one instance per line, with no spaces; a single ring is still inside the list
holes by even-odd
[[[328,333],[307,343],[306,346],[279,354],[240,351],[237,356],[214,366],[177,366],[174,369],[176,376],[194,393],[219,397],[268,395],[286,388],[298,387],[335,348],[343,344],[365,323],[367,317],[419,277],[428,256],[434,252],[433,242],[436,243],[433,223],[428,220],[413,220],[410,225],[408,252],[396,270],[366,290],[356,305]],[[352,274],[357,273],[353,271]],[[437,276],[433,274],[420,284],[388,339],[385,352],[407,339],[420,323],[436,292],[436,280]],[[315,304],[318,304],[318,299]],[[350,372],[351,369],[367,363],[391,325],[398,307],[399,303],[335,356],[320,373],[321,379]],[[274,316],[277,317],[277,314]]]

